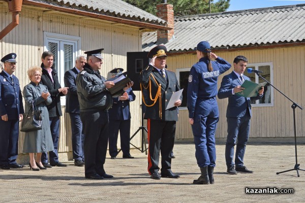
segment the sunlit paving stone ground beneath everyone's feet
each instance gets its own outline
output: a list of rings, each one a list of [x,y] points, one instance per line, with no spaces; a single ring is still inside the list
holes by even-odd
[[[305,202],[305,171],[295,166],[294,144],[249,144],[245,165],[254,174],[226,174],[225,145],[218,144],[214,185],[193,185],[200,176],[192,143],[176,143],[172,171],[179,179],[153,180],[147,173],[147,155],[133,150],[134,159],[107,156],[105,170],[113,179],[84,178],[84,168],[65,162],[39,172],[0,170],[0,202]],[[297,146],[298,163],[305,170],[305,144]],[[293,194],[247,194],[248,188],[293,189]]]

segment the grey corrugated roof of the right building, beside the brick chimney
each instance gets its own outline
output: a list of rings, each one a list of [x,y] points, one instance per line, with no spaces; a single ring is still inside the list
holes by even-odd
[[[157,32],[143,33],[143,51],[156,41]],[[305,4],[175,17],[168,51],[194,50],[200,41],[214,49],[305,41]]]

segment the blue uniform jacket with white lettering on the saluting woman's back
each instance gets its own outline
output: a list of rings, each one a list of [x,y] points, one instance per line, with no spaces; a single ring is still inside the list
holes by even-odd
[[[231,67],[228,61],[217,57],[216,61],[211,61],[213,71],[209,72],[207,62],[207,57],[200,58],[190,71],[187,102],[189,118],[194,118],[197,98],[210,98],[217,95],[218,76]]]

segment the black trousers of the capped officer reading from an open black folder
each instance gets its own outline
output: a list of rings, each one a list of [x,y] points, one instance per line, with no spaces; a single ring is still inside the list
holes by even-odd
[[[108,111],[80,112],[85,132],[85,177],[104,175],[104,163],[108,145]]]

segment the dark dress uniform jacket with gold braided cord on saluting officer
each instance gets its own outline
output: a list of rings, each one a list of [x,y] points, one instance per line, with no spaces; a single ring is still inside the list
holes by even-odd
[[[165,69],[165,74],[167,78],[163,78],[163,76],[160,74],[160,72],[153,66],[148,65],[145,70],[143,70],[140,74],[139,81],[144,87],[147,87],[147,96],[145,96],[145,103],[147,105],[153,104],[153,101],[150,100],[150,91],[151,96],[155,98],[158,86],[161,84],[161,109],[162,109],[162,118],[159,116],[159,98],[156,102],[156,104],[152,107],[146,107],[145,111],[145,119],[154,119],[154,120],[162,120],[162,121],[177,121],[178,120],[178,114],[177,114],[177,107],[170,108],[165,111],[167,104],[169,102],[169,99],[171,95],[180,90],[180,87],[178,85],[178,80],[176,78],[176,75],[172,71],[168,71]],[[156,81],[153,79],[153,77],[156,79]],[[149,78],[151,80],[151,88],[149,88]],[[168,82],[166,82],[166,79]],[[180,97],[180,100],[182,101],[182,95]]]

